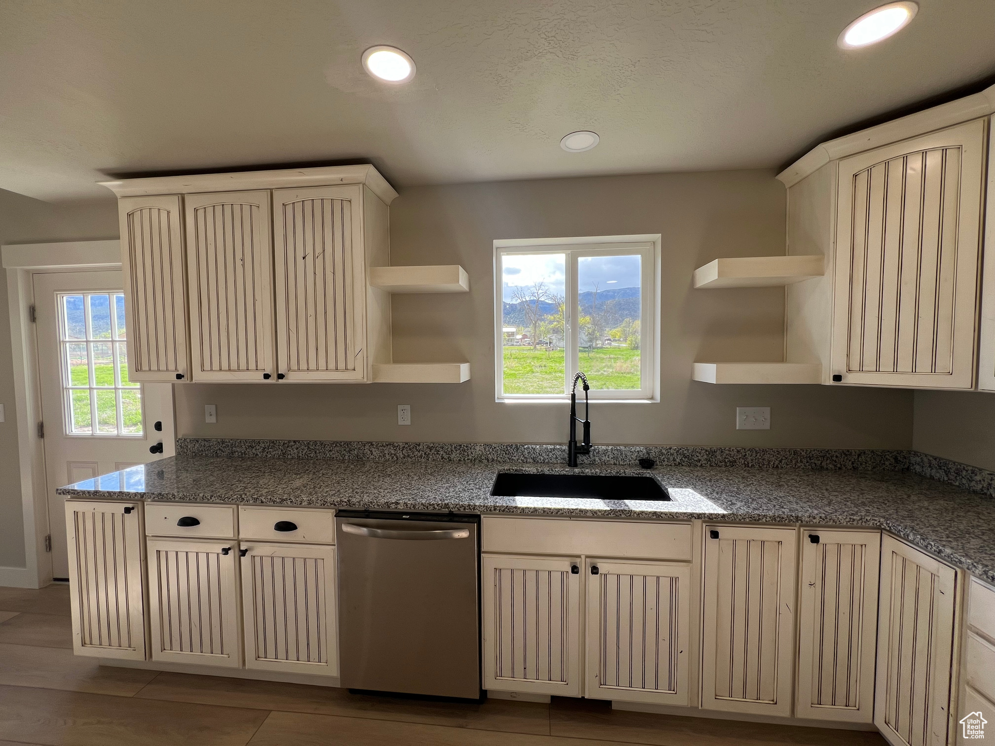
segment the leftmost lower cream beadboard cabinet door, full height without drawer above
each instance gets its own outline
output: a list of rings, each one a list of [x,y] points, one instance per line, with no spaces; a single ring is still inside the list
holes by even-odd
[[[141,503],[66,501],[73,652],[145,659]]]

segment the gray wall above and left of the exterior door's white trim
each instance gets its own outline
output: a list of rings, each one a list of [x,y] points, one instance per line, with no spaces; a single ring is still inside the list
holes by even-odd
[[[0,190],[0,244],[117,238],[117,207],[111,195],[94,203],[52,205]],[[10,342],[7,280],[0,282],[0,567],[24,566],[17,407]]]

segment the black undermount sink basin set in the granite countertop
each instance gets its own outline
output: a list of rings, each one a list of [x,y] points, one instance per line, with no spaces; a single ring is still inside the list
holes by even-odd
[[[497,473],[491,494],[500,497],[581,497],[602,500],[669,500],[652,476]]]

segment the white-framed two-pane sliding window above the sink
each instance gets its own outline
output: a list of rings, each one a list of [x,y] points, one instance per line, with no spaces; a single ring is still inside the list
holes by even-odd
[[[497,401],[658,394],[660,237],[495,242]]]

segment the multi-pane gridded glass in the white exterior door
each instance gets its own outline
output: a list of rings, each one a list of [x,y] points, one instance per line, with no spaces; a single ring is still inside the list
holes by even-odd
[[[67,435],[144,435],[141,387],[127,378],[123,297],[120,292],[57,296]]]

